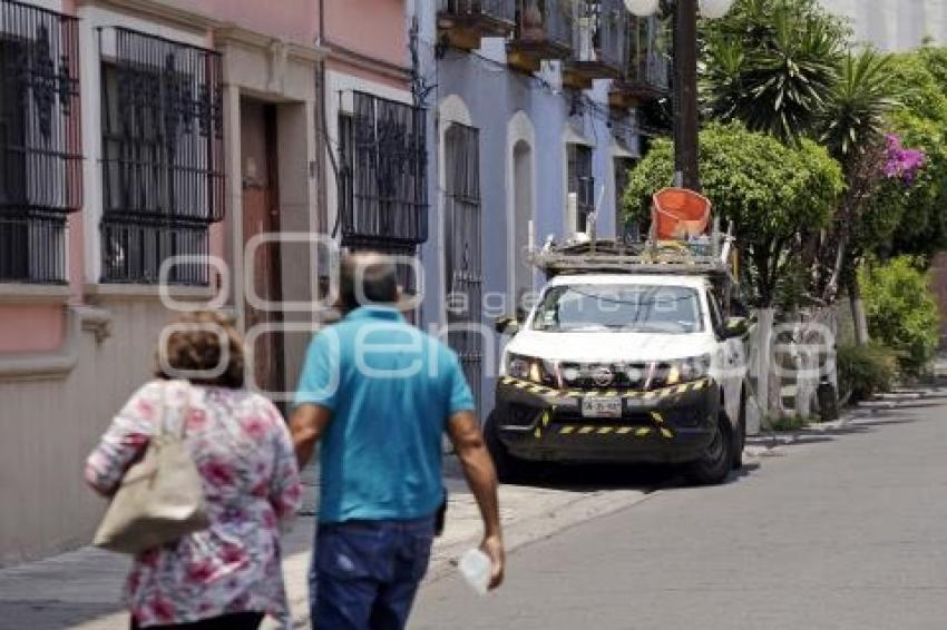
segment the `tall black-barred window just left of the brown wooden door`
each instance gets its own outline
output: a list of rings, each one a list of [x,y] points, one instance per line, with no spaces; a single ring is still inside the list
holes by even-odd
[[[137,31],[100,32],[106,283],[207,285],[211,224],[224,217],[217,52]]]

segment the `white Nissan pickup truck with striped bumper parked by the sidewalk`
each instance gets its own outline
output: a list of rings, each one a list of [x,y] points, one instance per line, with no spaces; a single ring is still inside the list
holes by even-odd
[[[646,462],[724,481],[746,433],[746,321],[700,269],[607,267],[554,275],[525,319],[497,323],[512,338],[485,433],[501,478],[527,461]]]

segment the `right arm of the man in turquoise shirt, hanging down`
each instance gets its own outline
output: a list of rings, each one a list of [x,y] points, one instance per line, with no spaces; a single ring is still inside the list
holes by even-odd
[[[500,508],[497,498],[497,471],[484,443],[480,423],[471,412],[461,411],[451,415],[447,432],[460,460],[467,484],[480,508],[480,516],[484,519],[484,542],[480,549],[490,557],[492,564],[490,589],[496,589],[504,581],[505,563]]]

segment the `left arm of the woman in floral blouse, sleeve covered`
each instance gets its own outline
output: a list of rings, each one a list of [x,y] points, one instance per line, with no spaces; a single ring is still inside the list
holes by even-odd
[[[145,453],[154,424],[163,413],[163,393],[160,382],[135,392],[86,460],[86,483],[102,496],[115,494],[125,471]]]

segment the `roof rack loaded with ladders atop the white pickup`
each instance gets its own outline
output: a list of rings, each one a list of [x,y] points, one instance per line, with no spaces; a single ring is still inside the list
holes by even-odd
[[[584,236],[584,235],[583,235]],[[713,275],[732,279],[735,248],[731,230],[713,232],[689,240],[645,240],[623,243],[594,237],[530,248],[527,260],[547,278],[562,274],[676,274]]]

